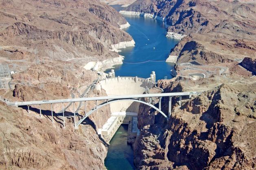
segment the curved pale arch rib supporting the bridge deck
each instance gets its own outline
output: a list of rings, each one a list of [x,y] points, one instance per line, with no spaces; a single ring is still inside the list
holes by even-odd
[[[153,104],[150,104],[150,103],[147,103],[147,102],[144,102],[144,101],[141,101],[141,100],[138,100],[138,99],[134,99],[134,98],[131,98],[131,99],[112,99],[112,100],[108,100],[106,102],[103,102],[101,104],[99,104],[98,106],[96,106],[96,108],[93,108],[91,109],[86,115],[84,115],[76,124],[75,124],[75,127],[78,127],[88,116],[90,116],[94,111],[102,108],[103,106],[106,106],[107,104],[111,104],[111,103],[114,103],[114,102],[119,102],[119,101],[133,101],[133,102],[139,102],[139,103],[142,103],[142,104],[146,104],[147,106],[150,106],[152,108],[154,108],[155,110],[157,110],[159,113],[161,113],[166,119],[168,119],[168,117],[161,111],[159,110],[159,108],[155,107]]]

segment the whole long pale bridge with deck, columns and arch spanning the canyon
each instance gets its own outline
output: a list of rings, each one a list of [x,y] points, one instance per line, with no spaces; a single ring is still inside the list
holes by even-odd
[[[51,105],[51,115],[52,115],[52,122],[53,122],[53,104],[62,104],[62,114],[63,114],[63,125],[65,126],[65,119],[64,119],[64,106],[63,103],[73,103],[73,110],[74,110],[74,127],[77,128],[88,116],[90,116],[94,111],[106,106],[107,104],[119,102],[119,101],[133,101],[145,104],[157,110],[161,113],[166,119],[171,116],[171,102],[172,97],[179,97],[179,105],[181,105],[182,96],[191,96],[191,95],[198,95],[201,92],[179,92],[179,93],[160,93],[160,94],[135,94],[135,95],[124,95],[124,96],[104,96],[104,97],[90,97],[90,98],[72,98],[72,99],[59,99],[59,100],[42,100],[42,101],[31,101],[31,102],[13,102],[7,103],[9,106],[27,106],[29,111],[29,106],[32,105],[39,105],[40,117],[42,117],[42,104],[50,104]],[[161,99],[163,97],[168,97],[168,116],[164,114],[161,110]],[[149,98],[149,102],[142,101],[141,98]],[[151,98],[159,98],[158,108],[151,104]],[[95,107],[86,112],[86,102],[87,101],[95,101]],[[98,104],[98,101],[103,101],[101,104]],[[84,102],[85,105],[85,115],[76,122],[76,111],[74,108],[75,102]]]

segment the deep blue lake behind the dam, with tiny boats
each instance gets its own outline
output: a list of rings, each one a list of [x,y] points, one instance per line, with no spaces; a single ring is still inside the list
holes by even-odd
[[[135,47],[121,49],[120,55],[125,56],[124,64],[114,66],[116,76],[150,77],[155,71],[156,79],[171,79],[174,64],[166,63],[171,49],[179,42],[166,38],[166,29],[162,21],[140,16],[125,15],[130,27],[124,29],[135,41]],[[109,70],[106,70],[109,72]]]

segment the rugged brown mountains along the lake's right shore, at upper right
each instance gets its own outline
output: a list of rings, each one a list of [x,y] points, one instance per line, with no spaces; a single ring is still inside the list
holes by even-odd
[[[220,64],[255,58],[256,7],[241,2],[138,0],[125,10],[164,17],[168,32],[189,35],[171,50],[178,63]]]

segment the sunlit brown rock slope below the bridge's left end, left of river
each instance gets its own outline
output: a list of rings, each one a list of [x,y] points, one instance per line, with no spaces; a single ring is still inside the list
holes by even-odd
[[[68,119],[63,128],[57,122],[53,125],[47,115],[39,118],[3,102],[0,110],[1,169],[104,169],[107,147],[92,126],[81,125],[74,130]],[[19,152],[17,148],[27,150]],[[4,153],[6,149],[9,152]]]

